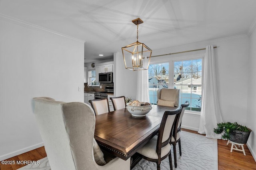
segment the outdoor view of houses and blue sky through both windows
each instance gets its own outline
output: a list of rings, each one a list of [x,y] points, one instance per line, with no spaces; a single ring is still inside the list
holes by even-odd
[[[150,103],[156,104],[156,91],[168,88],[169,63],[150,64],[148,68]],[[202,99],[202,59],[174,62],[174,88],[180,89],[180,104],[187,100],[187,110],[201,111]],[[170,82],[172,83],[172,82]]]

